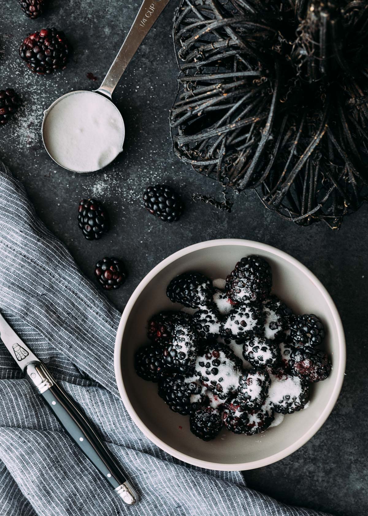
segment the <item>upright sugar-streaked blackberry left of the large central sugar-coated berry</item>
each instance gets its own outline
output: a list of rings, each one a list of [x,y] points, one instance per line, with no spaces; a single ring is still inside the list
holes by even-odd
[[[194,364],[198,350],[198,336],[188,324],[175,325],[173,342],[165,347],[163,356],[168,369],[186,372]]]

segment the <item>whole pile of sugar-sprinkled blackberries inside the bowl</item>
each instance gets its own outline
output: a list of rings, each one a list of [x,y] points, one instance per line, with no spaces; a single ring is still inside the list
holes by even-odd
[[[319,346],[325,337],[313,314],[294,315],[271,294],[272,270],[260,256],[245,256],[223,281],[188,271],[166,294],[182,311],[148,321],[149,344],[136,353],[139,376],[158,383],[168,407],[189,416],[204,441],[225,427],[254,435],[282,414],[306,408],[309,383],[325,380],[331,363]],[[214,286],[215,284],[215,286]]]

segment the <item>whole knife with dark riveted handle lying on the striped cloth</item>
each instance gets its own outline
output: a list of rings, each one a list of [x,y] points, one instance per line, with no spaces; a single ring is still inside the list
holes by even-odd
[[[21,341],[1,314],[0,338],[86,457],[127,505],[136,504],[139,500],[137,492],[88,422],[86,415],[63,391],[45,364]]]

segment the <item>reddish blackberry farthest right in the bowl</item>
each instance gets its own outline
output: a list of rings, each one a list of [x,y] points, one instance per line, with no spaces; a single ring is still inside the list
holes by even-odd
[[[293,374],[307,382],[326,380],[331,372],[331,363],[327,354],[322,349],[311,346],[295,349],[291,362]]]

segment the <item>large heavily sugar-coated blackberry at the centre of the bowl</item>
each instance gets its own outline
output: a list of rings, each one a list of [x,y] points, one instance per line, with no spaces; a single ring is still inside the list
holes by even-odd
[[[237,389],[242,364],[230,349],[211,344],[197,356],[194,370],[203,385],[225,400]]]

